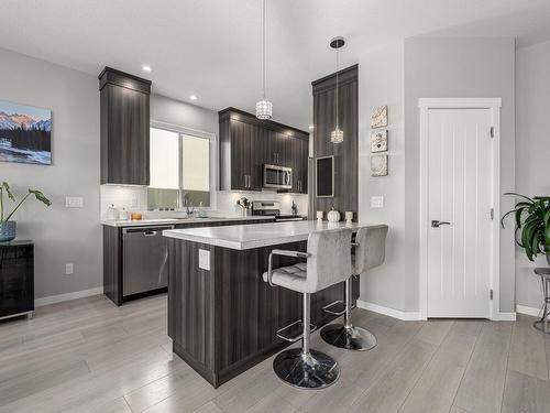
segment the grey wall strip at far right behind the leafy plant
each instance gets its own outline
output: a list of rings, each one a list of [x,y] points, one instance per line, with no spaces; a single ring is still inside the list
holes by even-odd
[[[550,42],[516,52],[516,189],[526,195],[550,195]],[[516,249],[516,302],[539,308],[540,280],[535,267],[546,267],[539,257],[530,262]]]

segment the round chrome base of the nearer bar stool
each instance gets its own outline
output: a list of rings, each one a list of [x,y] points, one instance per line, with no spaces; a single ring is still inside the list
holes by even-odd
[[[285,383],[298,389],[324,389],[340,377],[340,367],[323,352],[301,348],[282,351],[273,361],[273,370]]]

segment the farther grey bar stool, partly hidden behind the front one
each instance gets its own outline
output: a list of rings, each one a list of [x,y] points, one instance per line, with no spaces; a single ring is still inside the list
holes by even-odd
[[[384,262],[386,257],[387,229],[387,225],[380,225],[358,230],[355,242],[353,242],[355,257],[352,260],[352,272],[345,280],[345,308],[340,313],[334,313],[327,308],[338,302],[324,307],[329,313],[343,314],[344,316],[343,324],[329,324],[321,330],[322,339],[332,346],[358,351],[370,350],[376,346],[376,337],[371,332],[355,327],[351,323],[351,278],[360,275],[364,271],[378,267]]]

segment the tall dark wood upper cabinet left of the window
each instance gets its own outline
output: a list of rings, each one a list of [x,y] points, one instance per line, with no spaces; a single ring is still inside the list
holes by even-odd
[[[99,90],[101,184],[148,185],[151,81],[106,67]]]

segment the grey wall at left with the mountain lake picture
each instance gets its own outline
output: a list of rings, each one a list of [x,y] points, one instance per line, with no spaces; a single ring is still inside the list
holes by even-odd
[[[51,166],[0,163],[0,181],[20,194],[37,187],[50,208],[29,199],[14,216],[18,239],[33,239],[35,297],[102,285],[99,211],[98,80],[80,72],[0,50],[0,99],[52,109]],[[65,208],[65,196],[84,208]],[[75,273],[65,275],[65,263]]]

